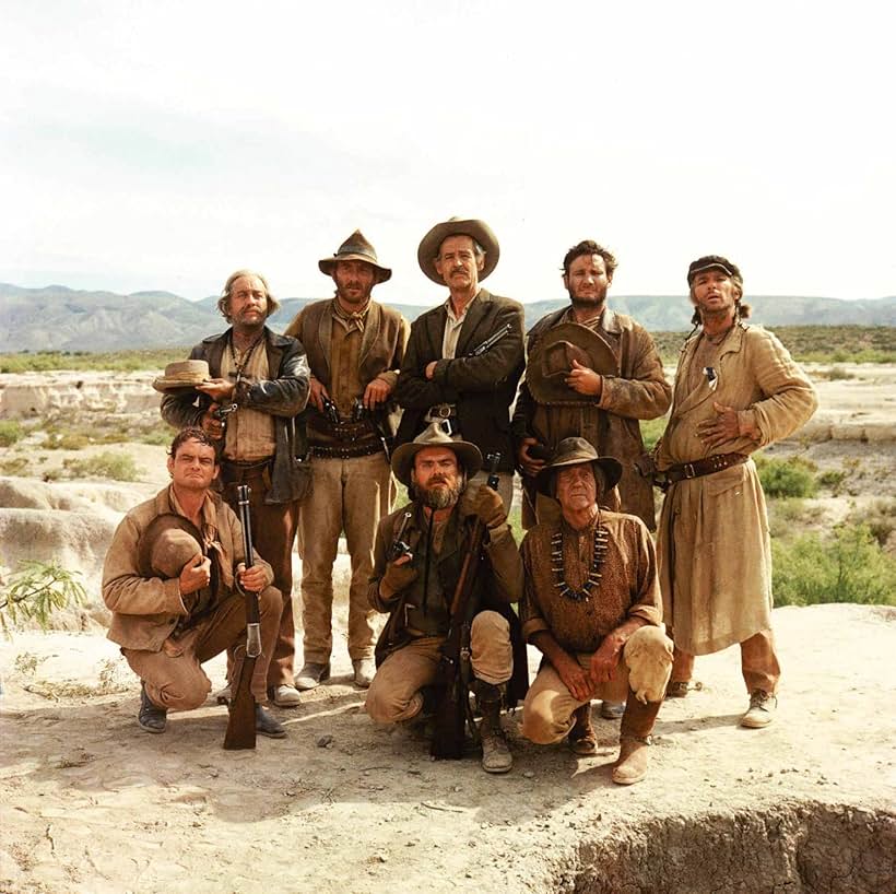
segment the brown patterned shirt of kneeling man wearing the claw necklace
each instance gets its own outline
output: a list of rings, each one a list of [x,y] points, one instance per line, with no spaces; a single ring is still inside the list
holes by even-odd
[[[573,601],[556,586],[552,538],[563,534],[564,579],[580,588],[591,567],[594,525],[605,527],[609,534],[600,586],[589,599]],[[550,631],[568,651],[592,652],[606,634],[629,617],[661,623],[653,543],[639,518],[602,510],[596,522],[581,531],[566,521],[543,522],[526,534],[521,551],[526,586],[520,617],[527,640],[540,631]]]

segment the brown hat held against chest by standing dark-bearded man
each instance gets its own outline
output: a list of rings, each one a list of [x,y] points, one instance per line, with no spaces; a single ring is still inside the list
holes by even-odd
[[[539,403],[593,403],[566,384],[574,360],[602,376],[618,375],[618,360],[605,339],[581,324],[563,322],[539,339],[526,367],[526,384]]]

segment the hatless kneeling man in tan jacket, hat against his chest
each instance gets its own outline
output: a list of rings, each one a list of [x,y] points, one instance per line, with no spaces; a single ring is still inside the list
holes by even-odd
[[[283,600],[267,562],[255,555],[246,568],[239,520],[211,490],[219,471],[209,435],[189,427],[177,434],[168,456],[172,483],[125,516],[106,554],[108,636],[140,677],[138,722],[148,732],[164,732],[168,710],[191,710],[205,701],[211,682],[201,664],[245,643],[240,589],[257,592],[262,654],[251,680],[256,730],[282,739],[286,730],[261,705]],[[245,650],[236,655],[232,681]]]

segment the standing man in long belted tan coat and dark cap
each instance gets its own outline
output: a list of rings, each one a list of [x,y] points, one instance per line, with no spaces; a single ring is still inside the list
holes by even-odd
[[[695,655],[741,646],[744,727],[774,719],[780,678],[771,635],[771,549],[750,455],[799,428],[817,398],[790,353],[747,326],[743,278],[719,255],[687,270],[694,326],[657,446],[665,490],[658,552],[664,619],[675,643],[669,696],[687,694]]]

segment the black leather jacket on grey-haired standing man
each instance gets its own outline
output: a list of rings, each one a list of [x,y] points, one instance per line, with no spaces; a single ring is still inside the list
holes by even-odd
[[[209,363],[212,378],[221,376],[221,360],[231,339],[231,330],[203,339],[190,352],[190,360]],[[274,417],[276,450],[271,469],[271,487],[266,503],[292,503],[300,499],[308,489],[310,470],[305,461],[308,452],[304,426],[296,422],[308,402],[308,360],[300,342],[278,336],[264,327],[264,349],[268,369],[275,369],[276,377],[251,385],[239,401],[255,410]],[[202,424],[202,415],[212,399],[198,391],[185,395],[166,395],[162,399],[162,417],[176,428]]]

